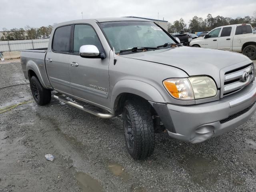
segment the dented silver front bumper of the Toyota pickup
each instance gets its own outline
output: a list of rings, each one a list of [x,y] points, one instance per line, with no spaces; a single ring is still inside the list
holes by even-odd
[[[165,104],[167,110],[159,110],[159,105],[155,103],[152,106],[159,112],[169,136],[198,143],[246,122],[256,110],[255,102],[256,83],[253,82],[240,92],[214,102],[192,106]],[[163,107],[162,104],[160,106]]]

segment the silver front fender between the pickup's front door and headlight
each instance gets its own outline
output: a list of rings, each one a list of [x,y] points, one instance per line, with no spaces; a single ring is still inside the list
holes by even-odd
[[[140,53],[138,53],[140,54]],[[110,51],[110,56],[113,52]],[[131,93],[143,97],[146,100],[158,103],[177,104],[176,100],[165,90],[162,81],[167,78],[184,78],[188,75],[175,67],[164,64],[147,62],[116,55],[116,64],[111,62],[109,66],[111,108],[119,94]],[[172,62],[172,61],[170,61]],[[182,101],[186,103],[186,101]],[[194,101],[188,101],[194,104]]]

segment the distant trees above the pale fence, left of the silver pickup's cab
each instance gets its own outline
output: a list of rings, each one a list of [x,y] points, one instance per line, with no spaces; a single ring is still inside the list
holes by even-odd
[[[42,26],[40,28],[32,28],[30,26],[26,26],[24,28],[12,28],[8,30],[3,28],[3,35],[0,37],[1,41],[11,41],[11,40],[27,40],[27,39],[43,39],[49,38],[52,32],[52,28],[56,24]]]

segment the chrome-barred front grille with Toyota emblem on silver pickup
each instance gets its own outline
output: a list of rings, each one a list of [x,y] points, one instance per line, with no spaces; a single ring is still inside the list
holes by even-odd
[[[245,74],[247,73],[247,74]],[[244,76],[247,76],[244,77]],[[250,64],[225,73],[223,96],[237,92],[254,80],[254,66]]]

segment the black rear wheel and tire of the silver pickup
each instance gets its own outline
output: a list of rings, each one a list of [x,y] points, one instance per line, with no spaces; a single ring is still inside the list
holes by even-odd
[[[30,79],[32,96],[38,105],[46,105],[52,99],[51,90],[45,89],[38,78],[32,76]]]

